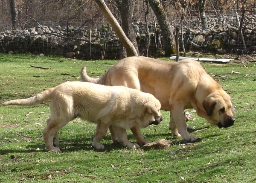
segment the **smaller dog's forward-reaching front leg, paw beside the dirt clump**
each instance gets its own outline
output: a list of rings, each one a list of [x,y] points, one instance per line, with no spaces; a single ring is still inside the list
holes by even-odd
[[[137,143],[131,143],[127,138],[127,133],[125,129],[119,128],[117,126],[114,127],[116,131],[116,136],[118,140],[122,144],[122,146],[127,147],[128,149],[136,149],[140,147]]]

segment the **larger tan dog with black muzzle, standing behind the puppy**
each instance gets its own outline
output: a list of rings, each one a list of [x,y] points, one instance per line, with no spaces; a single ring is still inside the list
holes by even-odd
[[[194,108],[213,126],[232,126],[231,97],[195,60],[168,62],[148,57],[120,60],[99,78],[90,78],[86,67],[81,70],[84,81],[108,86],[127,86],[153,94],[161,109],[171,112],[169,128],[174,137],[195,141],[187,132],[184,110]],[[113,139],[113,137],[112,137]]]

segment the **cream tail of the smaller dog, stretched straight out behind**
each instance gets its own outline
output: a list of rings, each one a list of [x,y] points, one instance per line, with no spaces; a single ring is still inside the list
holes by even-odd
[[[17,106],[33,106],[38,103],[42,103],[47,100],[51,100],[51,94],[54,88],[47,89],[40,94],[37,94],[34,97],[26,98],[26,99],[18,99],[18,100],[9,100],[7,102],[2,103],[3,106],[9,105],[17,105]]]

